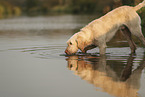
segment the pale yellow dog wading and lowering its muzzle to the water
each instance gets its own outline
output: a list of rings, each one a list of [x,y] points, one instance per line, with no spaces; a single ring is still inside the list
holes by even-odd
[[[98,46],[100,55],[104,55],[107,47],[106,42],[109,42],[119,29],[128,40],[131,53],[134,53],[136,46],[131,35],[135,35],[145,45],[140,25],[141,19],[136,12],[144,6],[145,0],[135,7],[121,6],[92,21],[67,41],[68,46],[65,53],[75,54],[78,49],[86,53]]]

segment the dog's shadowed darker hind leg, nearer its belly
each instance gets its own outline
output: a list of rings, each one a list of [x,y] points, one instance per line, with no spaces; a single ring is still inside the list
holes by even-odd
[[[131,53],[135,53],[136,44],[135,44],[134,41],[132,40],[130,30],[129,30],[125,25],[123,25],[123,26],[121,27],[121,32],[124,34],[124,36],[126,37],[128,43],[129,43],[129,46],[130,46],[130,49],[131,49]]]

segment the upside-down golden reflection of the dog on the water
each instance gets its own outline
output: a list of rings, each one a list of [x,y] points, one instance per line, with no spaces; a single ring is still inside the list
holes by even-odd
[[[117,97],[137,97],[141,73],[145,67],[145,57],[140,61],[138,67],[133,70],[134,59],[135,57],[130,55],[125,66],[124,63],[121,64],[120,62],[118,64],[118,61],[113,60],[109,63],[106,56],[69,56],[66,60],[70,70],[95,87],[101,88],[103,92]],[[121,65],[122,69],[119,71],[118,68],[117,71],[115,68],[112,69],[111,63]],[[120,73],[120,75],[117,73]]]

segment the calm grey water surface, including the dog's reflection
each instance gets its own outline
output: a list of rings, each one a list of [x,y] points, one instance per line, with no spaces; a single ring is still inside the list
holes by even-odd
[[[140,45],[136,55],[130,55],[126,40],[115,40],[103,57],[98,48],[64,56],[66,41],[94,18],[0,20],[0,97],[144,97]]]

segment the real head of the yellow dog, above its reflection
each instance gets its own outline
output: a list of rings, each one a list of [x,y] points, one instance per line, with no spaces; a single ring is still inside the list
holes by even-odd
[[[78,34],[74,34],[68,41],[67,41],[67,48],[65,53],[68,55],[75,54],[78,49],[83,51],[84,49],[84,41],[83,38]]]

